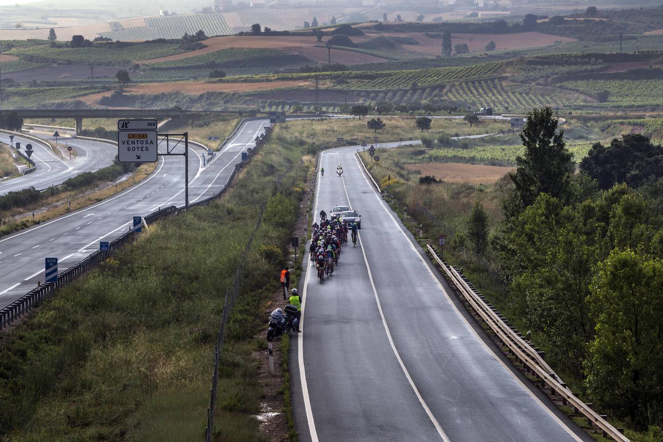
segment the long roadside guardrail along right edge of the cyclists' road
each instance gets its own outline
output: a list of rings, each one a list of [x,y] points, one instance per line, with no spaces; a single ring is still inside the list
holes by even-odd
[[[597,425],[603,431],[603,437],[611,437],[618,442],[630,442],[619,429],[613,427],[605,419],[605,415],[592,410],[591,404],[585,404],[571,392],[560,376],[546,363],[544,360],[545,353],[538,351],[536,347],[532,347],[528,341],[525,341],[524,337],[509,325],[509,321],[493,305],[489,304],[473,284],[463,276],[461,270],[442,260],[430,244],[426,245],[426,249],[438,266],[444,270],[452,284],[461,292],[465,300],[481,316],[481,319],[491,327],[501,343],[509,349],[509,353],[518,359],[527,372],[534,374],[540,380],[541,386],[548,384],[552,394],[559,394],[562,397],[564,405],[570,404],[576,413],[581,413],[587,417],[587,423]]]

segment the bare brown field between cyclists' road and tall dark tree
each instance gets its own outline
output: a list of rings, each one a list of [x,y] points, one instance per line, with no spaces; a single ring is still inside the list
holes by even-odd
[[[465,184],[493,184],[513,170],[508,167],[452,162],[408,164],[406,168],[420,175],[434,176],[444,182]]]

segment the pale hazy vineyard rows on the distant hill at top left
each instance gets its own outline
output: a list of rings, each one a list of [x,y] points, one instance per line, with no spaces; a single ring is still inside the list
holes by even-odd
[[[207,36],[234,33],[225,23],[222,13],[150,17],[145,19],[145,25],[140,28],[100,32],[99,35],[113,40],[153,40],[154,38],[182,38],[185,32],[195,34],[200,29]]]

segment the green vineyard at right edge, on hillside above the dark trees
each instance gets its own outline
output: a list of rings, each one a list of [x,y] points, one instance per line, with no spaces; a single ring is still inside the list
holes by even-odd
[[[564,82],[560,87],[597,95],[607,91],[607,103],[613,105],[661,105],[663,80],[578,80]]]

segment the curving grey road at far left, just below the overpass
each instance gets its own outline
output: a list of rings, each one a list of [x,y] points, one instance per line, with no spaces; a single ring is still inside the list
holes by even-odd
[[[35,135],[45,140],[54,140],[48,135]],[[0,133],[0,141],[9,144],[9,135]],[[75,138],[58,138],[58,144],[67,142],[76,148],[78,156],[72,160],[57,156],[44,142],[36,142],[19,135],[14,137],[14,142],[21,143],[21,150],[25,152],[25,145],[32,144],[32,159],[36,164],[36,170],[24,176],[18,176],[11,180],[0,181],[0,195],[7,192],[22,190],[34,186],[43,190],[49,186],[62,184],[68,178],[81,172],[94,172],[100,168],[113,164],[113,158],[117,154],[117,147],[105,142],[80,140]]]

